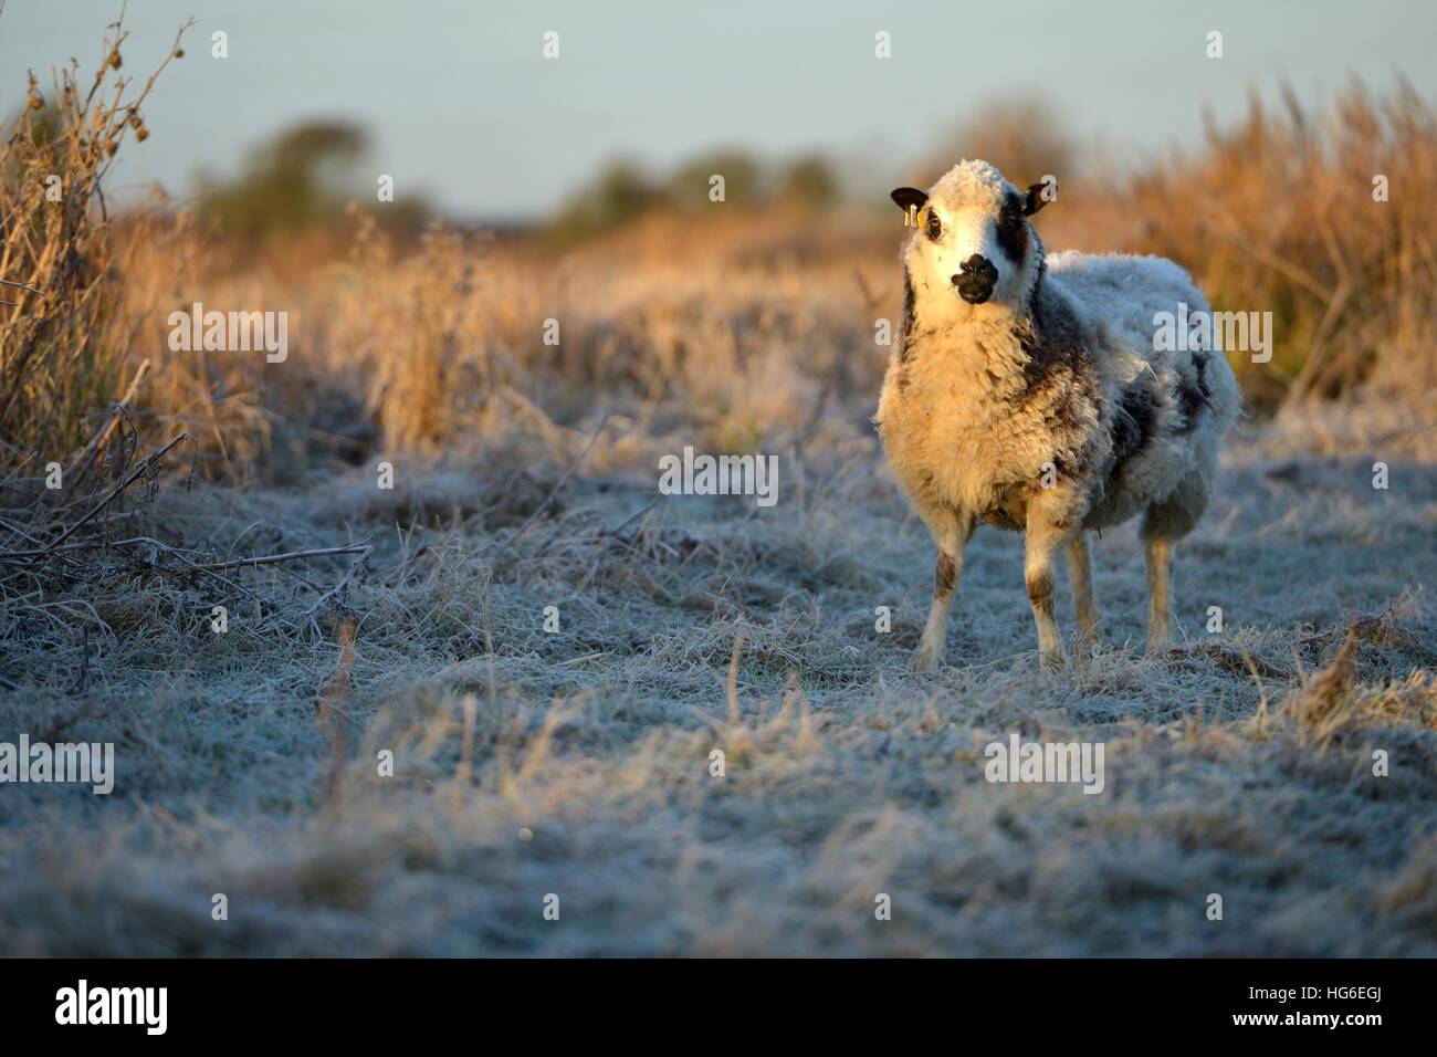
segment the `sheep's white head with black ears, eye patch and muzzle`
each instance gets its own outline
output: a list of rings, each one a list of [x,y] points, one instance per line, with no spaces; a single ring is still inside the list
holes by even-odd
[[[902,259],[920,296],[944,315],[960,299],[1026,309],[1043,260],[1027,217],[1043,207],[1042,191],[1043,184],[1017,190],[986,161],[960,161],[927,194],[895,190],[894,201],[917,221]]]

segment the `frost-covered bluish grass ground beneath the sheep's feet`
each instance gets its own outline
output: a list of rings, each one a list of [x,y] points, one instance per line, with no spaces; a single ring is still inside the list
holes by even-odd
[[[1132,528],[1096,541],[1104,644],[1058,674],[992,529],[905,670],[933,551],[858,427],[769,509],[657,496],[651,452],[167,480],[141,519],[211,559],[374,552],[338,608],[349,557],[115,564],[73,649],[29,646],[63,592],[4,617],[0,741],[116,778],[0,785],[0,951],[1437,955],[1437,462],[1335,430],[1233,439],[1163,657]],[[990,784],[1015,732],[1101,742],[1104,791]]]

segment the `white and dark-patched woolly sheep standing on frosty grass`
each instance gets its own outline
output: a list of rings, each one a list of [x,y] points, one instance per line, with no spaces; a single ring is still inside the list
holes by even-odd
[[[937,544],[933,604],[912,667],[943,659],[963,551],[979,521],[1025,534],[1023,580],[1043,667],[1063,664],[1053,558],[1069,568],[1078,646],[1098,637],[1085,534],[1142,516],[1150,653],[1170,628],[1173,545],[1213,489],[1242,407],[1211,341],[1167,351],[1163,312],[1209,312],[1188,275],[1152,256],[1046,257],[1019,191],[961,161],[928,193],[892,191],[914,221],[902,247],[904,318],[874,421],[884,454]],[[1173,318],[1173,316],[1168,316]],[[1191,342],[1178,342],[1187,349]]]

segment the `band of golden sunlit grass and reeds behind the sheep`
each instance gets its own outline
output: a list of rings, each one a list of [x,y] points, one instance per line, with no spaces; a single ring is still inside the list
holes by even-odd
[[[1401,86],[1385,98],[1351,89],[1331,115],[1255,108],[1204,152],[1131,186],[1079,180],[1040,223],[1050,249],[1171,256],[1219,309],[1272,312],[1272,361],[1233,354],[1259,417],[1365,390],[1401,395],[1394,418],[1427,423],[1437,233],[1417,188],[1433,186],[1434,167],[1426,104]],[[1375,174],[1388,201],[1372,200]],[[822,224],[782,209],[655,210],[555,256],[440,227],[417,247],[395,246],[356,213],[346,260],[249,272],[223,242],[180,224],[164,255],[138,250],[129,272],[126,285],[147,298],[126,301],[144,318],[132,357],[165,332],[164,312],[193,299],[297,316],[297,362],[282,370],[200,354],[151,375],[151,408],[190,426],[227,476],[243,476],[273,430],[292,434],[286,459],[358,457],[364,429],[389,453],[434,452],[510,427],[546,431],[540,418],[573,426],[595,393],[639,431],[678,414],[713,446],[782,446],[829,401],[877,385],[888,349],[875,345],[875,324],[901,314],[892,220],[846,209]],[[182,292],[177,259],[193,263]],[[155,301],[157,288],[170,299]],[[342,416],[315,407],[316,387]]]

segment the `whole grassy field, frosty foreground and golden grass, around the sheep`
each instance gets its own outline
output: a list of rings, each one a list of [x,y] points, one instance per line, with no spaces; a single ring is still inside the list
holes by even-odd
[[[1426,105],[1344,119],[1431,186]],[[0,741],[114,742],[115,790],[0,790],[0,953],[1437,955],[1433,220],[1374,221],[1341,161],[1275,217],[1313,125],[1255,121],[1039,224],[1280,335],[1234,362],[1173,649],[1125,526],[1056,673],[993,529],[947,664],[907,669],[933,546],[869,421],[897,211],[260,252],[9,186]],[[79,131],[34,144],[102,178]],[[1219,187],[1259,252],[1164,206]],[[290,312],[287,358],[174,349],[193,302]],[[661,495],[685,446],[777,456],[776,505]],[[1015,733],[1102,743],[1102,792],[987,781]]]

